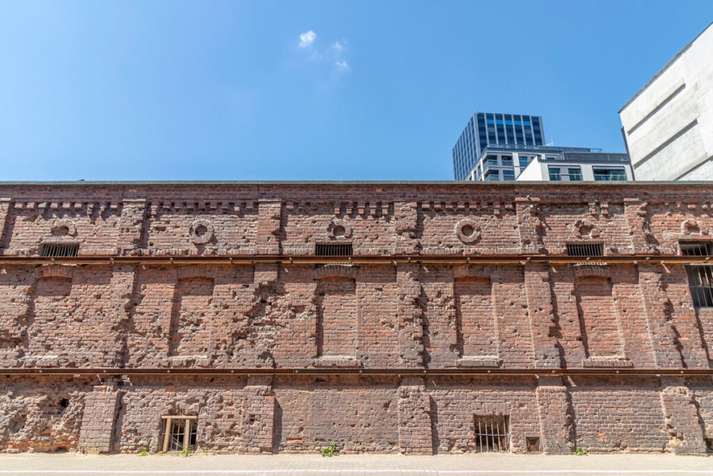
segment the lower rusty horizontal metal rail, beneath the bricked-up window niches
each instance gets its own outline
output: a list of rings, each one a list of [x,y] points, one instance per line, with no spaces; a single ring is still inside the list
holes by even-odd
[[[619,375],[713,376],[713,368],[0,368],[0,375]]]

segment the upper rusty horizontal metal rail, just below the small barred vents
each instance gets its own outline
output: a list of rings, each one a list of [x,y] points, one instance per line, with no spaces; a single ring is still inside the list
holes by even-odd
[[[314,256],[314,255],[220,255],[220,256],[76,256],[68,258],[46,258],[39,256],[0,255],[0,265],[24,264],[508,264],[508,263],[663,263],[663,264],[713,264],[713,256],[679,255],[607,255],[607,256],[565,256],[565,255],[354,255]]]

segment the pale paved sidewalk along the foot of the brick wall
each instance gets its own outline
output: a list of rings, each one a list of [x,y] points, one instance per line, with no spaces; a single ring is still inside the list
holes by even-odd
[[[673,455],[0,455],[5,475],[484,476],[711,475],[713,459]]]

